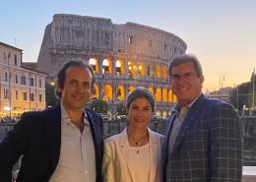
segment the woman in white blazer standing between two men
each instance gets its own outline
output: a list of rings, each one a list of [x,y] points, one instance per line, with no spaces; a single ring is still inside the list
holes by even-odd
[[[104,182],[160,182],[163,136],[148,128],[155,111],[153,94],[136,88],[126,110],[130,126],[104,141]]]

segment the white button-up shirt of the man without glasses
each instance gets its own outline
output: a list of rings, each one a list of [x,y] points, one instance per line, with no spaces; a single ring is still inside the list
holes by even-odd
[[[61,104],[61,149],[50,182],[96,181],[95,145],[86,111],[84,116],[85,127],[81,133]]]

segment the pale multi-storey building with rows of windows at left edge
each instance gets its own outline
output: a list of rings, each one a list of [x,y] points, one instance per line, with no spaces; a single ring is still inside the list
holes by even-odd
[[[23,66],[23,50],[0,42],[0,117],[45,108],[46,74]]]

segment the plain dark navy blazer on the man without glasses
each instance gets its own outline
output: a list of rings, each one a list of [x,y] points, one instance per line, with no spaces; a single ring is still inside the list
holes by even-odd
[[[103,153],[102,119],[86,108],[95,143],[96,182],[101,182]],[[43,111],[26,112],[0,144],[0,182],[11,182],[12,167],[23,154],[17,182],[46,182],[60,154],[60,105]]]

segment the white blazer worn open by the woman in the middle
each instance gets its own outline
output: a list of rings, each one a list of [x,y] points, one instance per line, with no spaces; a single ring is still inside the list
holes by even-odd
[[[150,136],[151,174],[149,182],[161,181],[161,149],[164,137],[148,128]],[[126,128],[104,141],[102,176],[104,182],[136,182],[135,168],[128,151]]]

